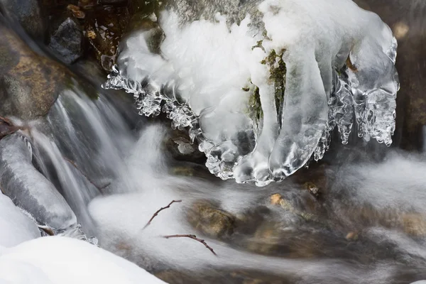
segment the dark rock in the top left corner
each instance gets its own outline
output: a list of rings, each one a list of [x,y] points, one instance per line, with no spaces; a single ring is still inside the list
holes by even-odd
[[[45,24],[38,0],[0,0],[8,16],[16,18],[33,38],[43,38]]]

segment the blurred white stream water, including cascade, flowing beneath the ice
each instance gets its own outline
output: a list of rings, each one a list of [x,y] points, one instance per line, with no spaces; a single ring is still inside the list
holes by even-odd
[[[426,279],[423,153],[350,139],[281,182],[237,184],[173,158],[170,121],[138,116],[121,93],[87,92],[74,82],[24,134],[36,168],[102,248],[170,283]],[[173,200],[182,202],[146,226]],[[226,218],[206,229],[204,212]],[[175,234],[196,234],[217,256],[193,239],[164,238]]]

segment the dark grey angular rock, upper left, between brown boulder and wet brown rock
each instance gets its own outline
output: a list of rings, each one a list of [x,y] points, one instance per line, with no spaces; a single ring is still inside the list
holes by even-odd
[[[49,48],[66,64],[82,57],[84,35],[75,16],[65,13],[50,28]]]

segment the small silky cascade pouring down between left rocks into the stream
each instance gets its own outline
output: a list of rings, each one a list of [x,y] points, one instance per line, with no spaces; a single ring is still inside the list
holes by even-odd
[[[87,97],[76,85],[65,90],[45,120],[33,121],[36,164],[65,197],[87,235],[94,224],[87,204],[107,192],[134,134],[106,96]]]

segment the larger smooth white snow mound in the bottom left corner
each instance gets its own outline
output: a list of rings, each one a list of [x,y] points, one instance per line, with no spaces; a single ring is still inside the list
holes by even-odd
[[[85,241],[48,236],[0,251],[0,283],[164,283],[124,258]]]

